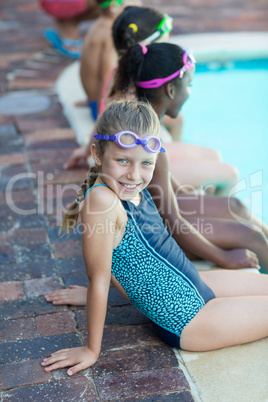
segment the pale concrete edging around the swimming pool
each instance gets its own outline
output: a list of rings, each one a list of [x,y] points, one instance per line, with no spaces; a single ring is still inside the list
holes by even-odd
[[[222,52],[221,60],[268,57],[268,33],[180,35],[172,36],[170,42],[192,49],[199,62],[215,60],[219,52]],[[240,50],[239,43],[243,44]],[[85,98],[79,82],[79,62],[63,71],[56,82],[56,92],[71,127],[76,131],[78,143],[84,144],[94,122],[88,108],[74,107],[75,101]],[[206,262],[196,265],[199,270],[211,266]],[[178,351],[176,356],[180,366],[183,365],[187,372],[187,380],[196,401],[268,400],[264,397],[268,395],[268,384],[263,376],[265,370],[268,372],[267,338],[213,352]]]

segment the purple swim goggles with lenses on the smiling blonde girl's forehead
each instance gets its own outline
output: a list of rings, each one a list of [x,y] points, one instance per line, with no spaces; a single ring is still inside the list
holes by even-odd
[[[110,140],[114,141],[116,145],[121,148],[131,149],[135,148],[137,145],[142,145],[145,151],[150,153],[156,152],[166,152],[164,148],[161,147],[161,141],[159,138],[154,137],[153,135],[147,135],[140,139],[137,134],[133,133],[133,131],[120,131],[115,135],[101,135],[96,134],[94,138],[97,140]]]

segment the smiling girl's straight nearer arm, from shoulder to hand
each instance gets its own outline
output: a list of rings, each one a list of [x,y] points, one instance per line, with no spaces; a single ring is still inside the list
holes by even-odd
[[[42,366],[48,366],[46,371],[70,366],[67,374],[72,375],[92,366],[99,357],[111,281],[117,214],[117,197],[107,188],[95,188],[85,200],[82,210],[82,246],[89,278],[88,344],[53,353],[42,363]]]

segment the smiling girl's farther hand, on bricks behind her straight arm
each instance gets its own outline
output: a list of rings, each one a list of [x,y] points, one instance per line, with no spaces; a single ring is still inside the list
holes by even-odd
[[[69,289],[59,289],[45,296],[47,302],[55,305],[72,304],[73,306],[85,306],[87,302],[87,288],[71,285]]]

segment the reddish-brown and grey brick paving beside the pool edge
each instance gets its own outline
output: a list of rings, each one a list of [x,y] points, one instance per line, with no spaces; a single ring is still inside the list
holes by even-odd
[[[267,30],[265,0],[145,3],[170,13],[176,34]],[[42,357],[87,339],[85,308],[44,299],[51,290],[87,283],[80,234],[57,236],[62,209],[86,170],[62,167],[77,144],[53,86],[70,60],[43,39],[50,25],[37,1],[1,1],[0,94],[34,91],[49,106],[0,114],[0,400],[193,401],[173,350],[114,288],[98,362],[72,378],[66,369],[45,373],[40,366]]]

